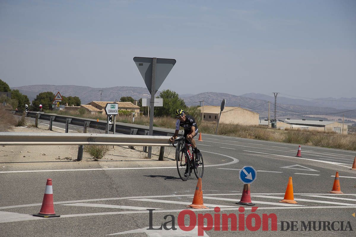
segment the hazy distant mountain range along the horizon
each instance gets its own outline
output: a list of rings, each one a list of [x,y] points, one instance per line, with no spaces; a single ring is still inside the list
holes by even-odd
[[[93,88],[88,86],[56,86],[56,85],[31,85],[12,87],[12,89],[19,90],[22,94],[27,95],[32,101],[39,93],[45,91],[52,91],[56,94],[58,91],[62,96],[78,96],[82,104],[87,104],[91,101],[119,101],[122,96],[131,96],[134,99],[150,98],[151,95],[147,88],[144,87],[130,87],[130,86],[116,86],[106,88]],[[156,95],[160,92],[158,91]],[[187,106],[191,105],[213,105],[220,106],[221,101],[226,99],[226,106],[241,106],[248,108],[251,111],[260,113],[261,118],[267,117],[268,101],[270,104],[271,118],[274,112],[274,96],[268,96],[258,93],[248,93],[241,96],[230,95],[227,93],[204,92],[197,95],[184,94],[180,95],[184,99]],[[346,102],[352,101],[352,102]],[[305,114],[333,114],[340,113],[346,110],[356,108],[356,98],[319,98],[318,100],[306,99],[291,99],[287,97],[277,96],[277,116],[283,117],[303,117]],[[304,114],[305,113],[305,114]],[[342,116],[342,114],[341,114]],[[347,112],[348,117],[356,118],[356,111]],[[320,116],[323,118],[323,116]]]

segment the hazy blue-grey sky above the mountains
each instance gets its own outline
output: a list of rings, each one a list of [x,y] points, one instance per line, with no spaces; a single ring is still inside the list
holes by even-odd
[[[0,0],[0,79],[146,87],[134,56],[177,60],[177,93],[356,97],[356,1]]]

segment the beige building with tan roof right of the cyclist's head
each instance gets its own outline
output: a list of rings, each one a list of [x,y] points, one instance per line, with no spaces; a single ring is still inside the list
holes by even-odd
[[[204,121],[218,122],[220,106],[203,106],[198,108],[200,116],[204,113]],[[260,114],[241,107],[225,107],[221,112],[220,123],[233,123],[258,126]]]

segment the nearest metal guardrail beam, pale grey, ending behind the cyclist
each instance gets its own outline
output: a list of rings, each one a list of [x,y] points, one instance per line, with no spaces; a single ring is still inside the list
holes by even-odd
[[[0,145],[118,145],[170,146],[169,136],[95,133],[12,133],[0,132]]]

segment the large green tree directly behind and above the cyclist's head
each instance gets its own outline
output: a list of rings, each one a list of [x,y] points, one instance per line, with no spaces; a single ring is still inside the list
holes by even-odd
[[[164,90],[156,98],[163,98],[163,107],[155,107],[156,116],[174,117],[177,109],[185,109],[187,106],[175,91]]]

